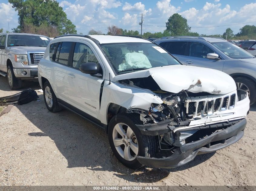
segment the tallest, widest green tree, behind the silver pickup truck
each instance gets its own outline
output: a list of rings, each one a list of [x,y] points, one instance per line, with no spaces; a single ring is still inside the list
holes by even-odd
[[[75,25],[67,19],[66,13],[57,1],[53,0],[8,0],[18,11],[18,27],[14,32],[22,32],[25,25],[32,24],[39,27],[47,24],[54,27],[61,34],[76,33]]]

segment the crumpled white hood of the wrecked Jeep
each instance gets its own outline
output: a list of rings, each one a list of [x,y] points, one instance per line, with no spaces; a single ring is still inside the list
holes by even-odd
[[[161,90],[178,93],[188,90],[193,93],[208,92],[210,94],[228,94],[236,90],[236,84],[224,72],[187,65],[170,65],[149,68],[137,72],[115,76],[114,81],[132,78],[152,78]]]

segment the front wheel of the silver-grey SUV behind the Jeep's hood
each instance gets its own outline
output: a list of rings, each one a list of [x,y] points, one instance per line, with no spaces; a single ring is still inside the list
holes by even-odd
[[[248,96],[250,99],[250,105],[254,104],[256,101],[256,85],[254,81],[248,78],[234,78],[236,83],[236,87],[238,90],[244,90],[248,92]]]

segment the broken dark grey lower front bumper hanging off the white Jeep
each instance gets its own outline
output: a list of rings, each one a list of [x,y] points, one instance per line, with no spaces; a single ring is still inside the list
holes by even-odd
[[[137,156],[137,160],[144,165],[155,168],[179,167],[192,161],[197,154],[204,154],[225,148],[237,142],[244,135],[246,119],[241,119],[238,123],[202,138],[198,141],[184,144],[177,147],[175,152],[165,158],[148,158]]]

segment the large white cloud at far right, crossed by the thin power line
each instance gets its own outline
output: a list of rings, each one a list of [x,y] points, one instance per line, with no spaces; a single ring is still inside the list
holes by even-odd
[[[234,33],[238,33],[239,28],[243,27],[245,24],[224,27],[212,26],[238,24],[254,21],[256,16],[255,9],[256,3],[244,5],[240,8],[240,10],[235,11],[232,10],[231,6],[228,4],[223,7],[221,3],[214,4],[206,2],[201,9],[190,8],[186,11],[180,12],[179,14],[187,18],[188,25],[192,27],[193,32],[198,32],[200,34],[222,34],[226,30],[226,28],[230,27],[232,30],[234,30]],[[209,28],[193,29],[193,27]]]

